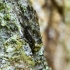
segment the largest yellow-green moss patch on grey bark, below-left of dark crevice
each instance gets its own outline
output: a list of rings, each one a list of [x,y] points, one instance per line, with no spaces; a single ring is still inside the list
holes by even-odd
[[[5,51],[7,52],[9,48],[13,49],[13,51],[9,51],[8,53],[10,53],[11,57],[9,58],[8,55],[8,60],[10,62],[15,61],[18,62],[19,60],[22,60],[23,62],[26,62],[29,65],[34,66],[35,63],[32,59],[32,57],[27,56],[23,50],[23,45],[26,42],[23,41],[22,39],[19,38],[18,35],[14,35],[12,37],[10,37],[5,43]]]

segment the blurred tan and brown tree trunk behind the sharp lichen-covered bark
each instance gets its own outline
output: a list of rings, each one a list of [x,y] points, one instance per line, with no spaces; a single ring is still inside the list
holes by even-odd
[[[52,70],[70,70],[70,0],[30,0],[36,10],[44,55]]]

